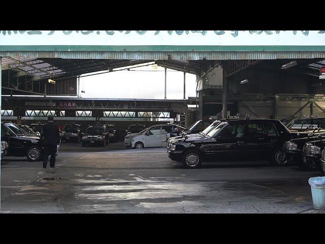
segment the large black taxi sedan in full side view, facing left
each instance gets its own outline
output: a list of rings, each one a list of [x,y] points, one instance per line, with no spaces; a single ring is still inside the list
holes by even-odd
[[[225,119],[200,137],[180,138],[168,146],[169,158],[187,168],[199,168],[202,161],[267,158],[282,165],[283,143],[291,132],[275,119]]]

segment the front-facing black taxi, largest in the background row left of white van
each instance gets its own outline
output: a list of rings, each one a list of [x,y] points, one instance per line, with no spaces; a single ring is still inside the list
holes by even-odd
[[[82,136],[81,145],[100,145],[105,146],[109,143],[108,133],[105,126],[89,126]]]

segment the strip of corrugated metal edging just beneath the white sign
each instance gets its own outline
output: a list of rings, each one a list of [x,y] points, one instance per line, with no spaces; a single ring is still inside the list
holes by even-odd
[[[0,56],[77,59],[226,60],[325,58],[324,51],[0,51]]]

